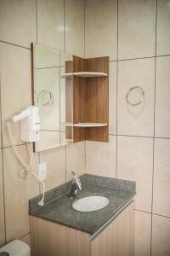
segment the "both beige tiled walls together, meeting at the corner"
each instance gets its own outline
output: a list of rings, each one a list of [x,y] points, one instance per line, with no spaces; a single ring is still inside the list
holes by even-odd
[[[0,244],[29,242],[27,201],[37,181],[23,181],[5,122],[31,104],[30,44],[86,57],[110,56],[110,143],[76,143],[36,154],[48,164],[47,188],[71,170],[137,182],[135,256],[170,254],[170,3],[167,0],[0,0]],[[84,44],[85,32],[85,44]],[[127,90],[145,91],[139,115]],[[15,141],[21,145],[19,126]],[[85,162],[86,159],[86,162]]]

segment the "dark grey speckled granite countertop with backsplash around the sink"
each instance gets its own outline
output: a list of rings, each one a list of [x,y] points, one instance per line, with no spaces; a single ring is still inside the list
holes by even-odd
[[[45,196],[44,207],[39,207],[37,201],[40,195],[29,201],[29,213],[37,218],[63,224],[93,235],[105,223],[113,218],[136,193],[134,182],[110,177],[99,177],[84,174],[80,177],[82,190],[78,191],[74,200],[67,196],[71,182],[49,190]],[[72,203],[89,195],[103,195],[109,198],[107,207],[94,212],[78,212],[72,208]]]

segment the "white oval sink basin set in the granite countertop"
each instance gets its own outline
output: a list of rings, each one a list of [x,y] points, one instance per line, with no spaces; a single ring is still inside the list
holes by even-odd
[[[109,204],[109,199],[105,196],[93,195],[83,197],[72,204],[72,207],[79,212],[94,212]]]

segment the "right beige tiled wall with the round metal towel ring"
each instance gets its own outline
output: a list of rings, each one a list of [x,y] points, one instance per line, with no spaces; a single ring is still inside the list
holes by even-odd
[[[86,172],[135,180],[135,256],[170,255],[170,2],[87,0],[85,14],[86,57],[110,56],[110,142],[86,142]]]

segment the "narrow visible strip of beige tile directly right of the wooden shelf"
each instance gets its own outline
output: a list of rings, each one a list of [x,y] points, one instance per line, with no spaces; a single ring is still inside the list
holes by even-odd
[[[116,134],[116,62],[109,68],[109,133]]]

